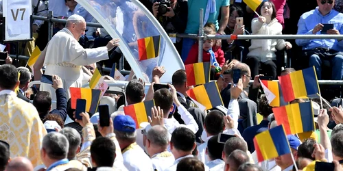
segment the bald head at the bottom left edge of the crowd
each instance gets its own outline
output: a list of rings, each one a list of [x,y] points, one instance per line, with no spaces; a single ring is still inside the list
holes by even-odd
[[[6,171],[33,171],[34,166],[32,166],[31,161],[25,157],[15,157],[11,159],[10,163],[6,168]]]

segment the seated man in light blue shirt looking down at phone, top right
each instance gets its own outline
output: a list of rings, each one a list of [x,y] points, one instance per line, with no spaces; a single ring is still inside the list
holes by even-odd
[[[343,14],[333,10],[335,0],[317,0],[315,10],[305,12],[298,22],[297,34],[343,34]],[[333,29],[324,29],[324,24],[333,24]],[[335,39],[298,39],[298,46],[309,56],[309,66],[316,67],[318,79],[321,79],[322,60],[331,63],[332,79],[341,80],[343,75],[343,41]]]

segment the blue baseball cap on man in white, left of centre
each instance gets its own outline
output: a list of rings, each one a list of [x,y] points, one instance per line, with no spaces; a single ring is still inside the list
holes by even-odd
[[[136,122],[128,115],[118,115],[113,120],[113,126],[116,131],[133,133],[136,131]]]

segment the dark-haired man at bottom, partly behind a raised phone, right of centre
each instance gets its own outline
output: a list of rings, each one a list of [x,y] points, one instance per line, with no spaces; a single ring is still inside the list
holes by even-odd
[[[225,162],[222,160],[222,152],[224,150],[224,144],[218,142],[218,135],[214,135],[207,142],[206,155],[209,157],[209,161],[205,164],[209,166],[211,171],[223,171]]]

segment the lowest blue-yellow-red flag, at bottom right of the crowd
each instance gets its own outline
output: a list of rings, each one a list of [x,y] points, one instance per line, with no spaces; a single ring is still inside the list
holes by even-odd
[[[257,134],[254,146],[259,162],[291,153],[283,125]]]

